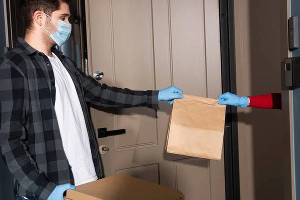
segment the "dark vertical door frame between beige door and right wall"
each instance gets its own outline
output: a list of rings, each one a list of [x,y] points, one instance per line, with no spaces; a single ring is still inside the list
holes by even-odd
[[[234,0],[219,0],[222,91],[236,93]],[[239,200],[237,108],[227,106],[224,131],[226,200]]]

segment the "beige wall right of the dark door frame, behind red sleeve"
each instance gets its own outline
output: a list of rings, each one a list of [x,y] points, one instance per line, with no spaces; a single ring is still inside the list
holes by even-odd
[[[281,92],[280,62],[288,56],[287,4],[234,0],[238,95]],[[283,110],[238,109],[242,200],[292,199],[288,95],[283,94]]]

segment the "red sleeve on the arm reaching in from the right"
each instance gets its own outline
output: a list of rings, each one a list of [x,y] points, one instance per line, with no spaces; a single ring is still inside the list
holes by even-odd
[[[248,97],[250,99],[250,107],[281,109],[281,93],[270,93]]]

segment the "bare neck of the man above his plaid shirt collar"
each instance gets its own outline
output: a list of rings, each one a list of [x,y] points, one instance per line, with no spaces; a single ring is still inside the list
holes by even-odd
[[[36,50],[43,52],[45,55],[52,56],[51,47],[47,46],[40,36],[25,34],[24,40]]]

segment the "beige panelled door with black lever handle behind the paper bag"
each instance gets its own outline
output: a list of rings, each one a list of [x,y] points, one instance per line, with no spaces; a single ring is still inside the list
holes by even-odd
[[[186,94],[221,93],[218,0],[85,0],[90,75],[130,89],[175,85]],[[126,129],[99,138],[105,176],[125,173],[179,189],[187,200],[225,199],[224,162],[166,153],[171,106],[92,107],[95,129]],[[184,133],[182,133],[184,134]]]

